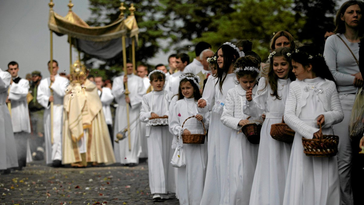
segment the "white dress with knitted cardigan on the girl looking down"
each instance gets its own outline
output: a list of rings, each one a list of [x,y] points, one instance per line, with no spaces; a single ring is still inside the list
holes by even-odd
[[[258,86],[253,87],[253,97]],[[226,103],[221,121],[232,129],[230,135],[229,155],[227,156],[226,177],[220,204],[248,205],[252,189],[255,167],[257,165],[259,144],[248,141],[239,122],[249,115],[243,113],[246,91],[239,85],[227,91]],[[250,118],[249,121],[254,120]]]

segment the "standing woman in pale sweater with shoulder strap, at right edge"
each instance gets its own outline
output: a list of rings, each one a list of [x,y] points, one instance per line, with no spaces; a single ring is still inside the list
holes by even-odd
[[[342,204],[353,204],[351,189],[353,150],[348,125],[355,93],[357,88],[363,85],[359,60],[357,60],[359,59],[359,42],[363,36],[362,8],[361,1],[347,1],[341,5],[335,19],[336,35],[327,39],[324,50],[326,64],[336,80],[344,112],[344,120],[333,126],[335,135],[340,137],[337,162]]]

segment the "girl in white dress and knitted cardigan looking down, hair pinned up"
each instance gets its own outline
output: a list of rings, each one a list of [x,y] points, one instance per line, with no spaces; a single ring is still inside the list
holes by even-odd
[[[227,91],[226,103],[221,115],[221,122],[230,127],[229,155],[220,204],[249,205],[255,167],[257,165],[259,144],[252,144],[243,133],[238,133],[249,121],[249,115],[244,114],[245,93],[253,88],[257,91],[256,80],[260,71],[258,60],[253,56],[238,58],[235,65],[238,85]],[[253,96],[254,96],[253,94]]]

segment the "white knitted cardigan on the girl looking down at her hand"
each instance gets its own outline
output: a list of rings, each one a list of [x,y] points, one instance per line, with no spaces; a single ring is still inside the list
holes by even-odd
[[[253,87],[253,98],[258,90],[258,86]],[[239,85],[227,91],[225,106],[221,115],[221,122],[233,130],[240,130],[239,122],[246,119],[249,115],[244,114],[246,91]]]

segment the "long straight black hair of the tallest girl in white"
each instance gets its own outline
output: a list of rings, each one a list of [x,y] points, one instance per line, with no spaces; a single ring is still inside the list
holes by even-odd
[[[222,55],[223,55],[223,58],[224,58],[224,65],[223,65],[223,68],[219,68],[217,66],[217,73],[216,73],[215,78],[218,79],[216,84],[219,83],[219,89],[220,89],[220,92],[222,92],[222,84],[225,81],[227,72],[229,72],[231,64],[233,64],[236,61],[236,59],[239,58],[239,52],[237,50],[235,50],[235,48],[233,48],[233,47],[231,47],[231,46],[229,46],[227,44],[221,45],[217,49],[217,51],[219,49],[221,49],[221,51],[222,51]]]

